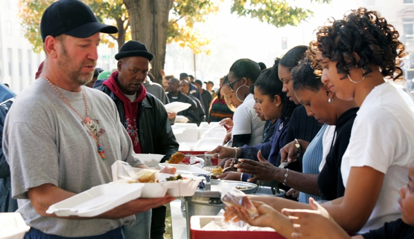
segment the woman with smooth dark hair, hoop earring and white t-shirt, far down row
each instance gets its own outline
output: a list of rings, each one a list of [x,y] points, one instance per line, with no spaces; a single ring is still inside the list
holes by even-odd
[[[254,97],[250,94],[250,87],[254,85],[260,73],[258,63],[250,59],[239,59],[230,67],[228,85],[234,96],[243,102],[233,116],[233,147],[261,143],[265,121],[256,116]]]

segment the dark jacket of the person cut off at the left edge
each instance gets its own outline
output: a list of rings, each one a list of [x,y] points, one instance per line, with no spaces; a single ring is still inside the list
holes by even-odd
[[[10,167],[3,154],[3,147],[1,145],[6,114],[14,101],[15,98],[10,98],[0,105],[0,212],[13,212],[17,210],[17,200],[12,198],[10,186]]]

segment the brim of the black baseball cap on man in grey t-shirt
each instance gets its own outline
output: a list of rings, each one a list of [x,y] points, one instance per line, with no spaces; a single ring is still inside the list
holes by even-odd
[[[114,34],[118,32],[118,29],[113,25],[106,25],[104,23],[99,22],[90,22],[85,23],[83,25],[79,25],[76,28],[70,29],[64,32],[64,34],[77,38],[86,38],[91,37],[93,34],[97,32]]]

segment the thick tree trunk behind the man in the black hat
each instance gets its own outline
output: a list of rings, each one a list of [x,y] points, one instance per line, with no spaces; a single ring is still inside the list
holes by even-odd
[[[129,12],[131,37],[147,46],[154,55],[152,74],[162,85],[160,70],[164,69],[169,11],[173,0],[124,0]]]

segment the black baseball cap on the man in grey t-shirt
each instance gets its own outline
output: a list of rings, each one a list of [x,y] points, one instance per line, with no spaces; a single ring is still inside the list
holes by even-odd
[[[44,11],[40,22],[41,39],[67,34],[72,37],[91,37],[96,32],[117,33],[113,25],[97,21],[91,8],[79,0],[55,1]]]

